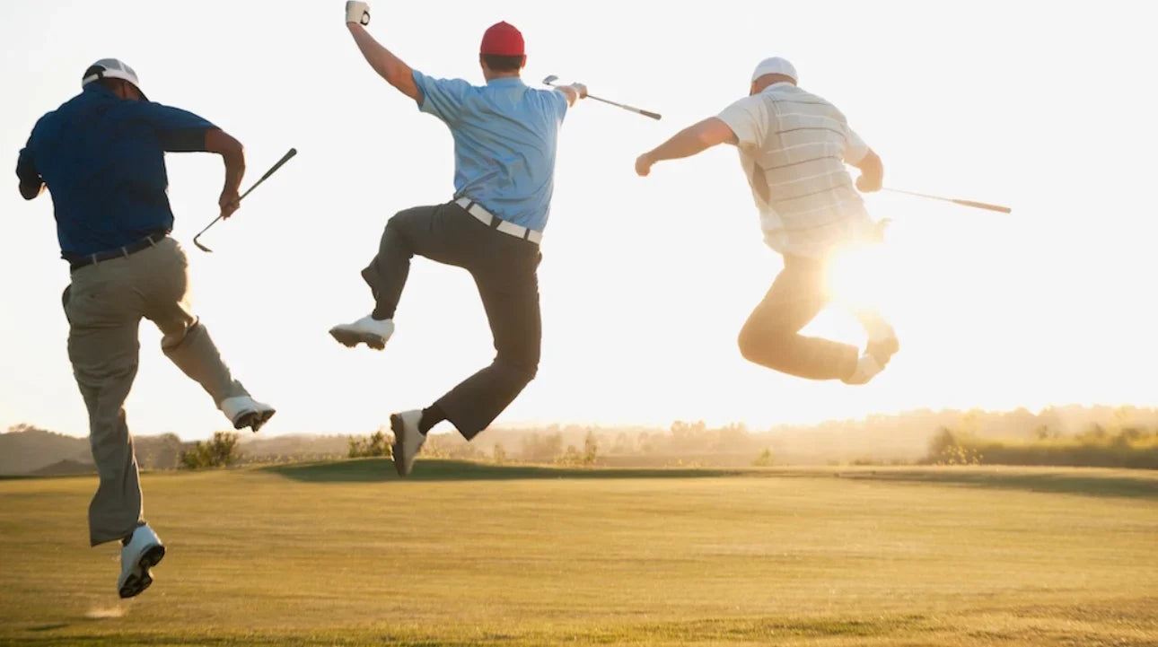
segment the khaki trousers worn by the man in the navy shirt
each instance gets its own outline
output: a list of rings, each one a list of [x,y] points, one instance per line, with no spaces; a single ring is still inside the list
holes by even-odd
[[[64,294],[68,359],[88,406],[89,443],[101,478],[88,508],[91,545],[144,523],[140,480],[124,403],[137,376],[141,318],[163,334],[161,348],[214,403],[248,395],[190,311],[189,264],[173,238],[125,258],[73,272]]]

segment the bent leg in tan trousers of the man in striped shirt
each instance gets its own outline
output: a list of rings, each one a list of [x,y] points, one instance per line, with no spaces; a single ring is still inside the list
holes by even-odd
[[[784,270],[740,331],[740,352],[750,362],[797,377],[849,377],[857,368],[856,346],[799,333],[827,303],[823,265],[786,257]]]

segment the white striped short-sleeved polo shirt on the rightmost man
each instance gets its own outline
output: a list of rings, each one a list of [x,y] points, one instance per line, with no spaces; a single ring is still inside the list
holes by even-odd
[[[868,146],[844,115],[792,83],[775,83],[719,113],[735,133],[760,209],[764,242],[789,256],[823,258],[873,229],[845,163]]]

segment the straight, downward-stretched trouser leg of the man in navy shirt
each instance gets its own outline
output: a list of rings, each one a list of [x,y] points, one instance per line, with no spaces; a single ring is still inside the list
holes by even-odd
[[[116,280],[100,280],[100,265],[82,270],[65,291],[68,359],[88,407],[89,444],[100,485],[88,507],[91,545],[120,541],[145,522],[133,439],[124,403],[137,376],[140,315]],[[113,278],[115,279],[115,278]]]

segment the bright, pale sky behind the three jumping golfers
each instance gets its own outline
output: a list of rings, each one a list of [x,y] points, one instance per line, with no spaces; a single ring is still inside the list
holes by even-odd
[[[235,376],[279,412],[262,433],[367,433],[428,405],[493,356],[464,271],[416,259],[383,352],[327,331],[368,313],[359,271],[387,219],[453,192],[445,125],[365,64],[344,2],[6,0],[0,3],[0,155],[80,91],[94,60],[133,66],[153,101],[197,112],[247,148],[248,188],[215,215],[222,166],[167,156],[174,236],[197,314]],[[538,376],[496,425],[780,422],[911,409],[1155,405],[1153,177],[1158,45],[1133,2],[537,2],[372,5],[369,31],[424,73],[482,83],[477,47],[506,20],[523,78],[557,74],[659,122],[580,102],[559,135],[543,242]],[[863,387],[746,362],[735,337],[782,266],[761,240],[736,153],[658,164],[638,154],[748,90],[783,56],[885,162],[885,184],[1012,207],[1012,214],[866,196],[887,243],[846,275],[893,322],[901,352]],[[10,172],[10,171],[9,171]],[[49,196],[0,192],[0,428],[87,434],[72,378]],[[805,332],[862,344],[841,308]],[[228,428],[140,329],[126,403],[138,434]]]

